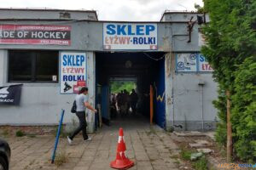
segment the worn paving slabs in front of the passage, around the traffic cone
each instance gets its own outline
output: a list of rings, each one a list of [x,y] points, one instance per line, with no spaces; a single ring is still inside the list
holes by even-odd
[[[83,141],[81,135],[67,144],[61,138],[57,151],[65,154],[67,162],[60,167],[50,164],[55,143],[54,136],[8,138],[12,149],[10,170],[20,169],[68,169],[108,170],[110,161],[116,156],[118,126],[103,127],[92,135],[91,141]],[[126,154],[135,161],[131,170],[170,170],[177,168],[177,145],[159,127],[149,125],[124,127]]]

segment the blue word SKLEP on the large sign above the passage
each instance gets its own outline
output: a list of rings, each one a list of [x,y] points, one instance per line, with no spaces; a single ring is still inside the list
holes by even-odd
[[[155,26],[154,25],[136,25],[135,26],[135,32],[132,31],[132,26],[131,24],[124,24],[124,25],[113,25],[109,24],[106,26],[107,28],[107,34],[108,35],[128,35],[128,36],[133,36],[133,35],[138,35],[138,36],[144,36],[144,35],[150,35],[150,32],[155,31]]]

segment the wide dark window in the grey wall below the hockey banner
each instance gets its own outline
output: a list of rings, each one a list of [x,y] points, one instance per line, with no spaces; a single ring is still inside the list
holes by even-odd
[[[58,51],[9,51],[9,82],[58,82]]]

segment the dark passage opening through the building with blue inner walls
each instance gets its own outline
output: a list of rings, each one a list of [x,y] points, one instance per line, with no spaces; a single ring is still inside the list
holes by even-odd
[[[96,53],[96,105],[101,108],[101,117],[96,118],[96,124],[101,122],[101,119],[108,126],[134,121],[149,124],[150,85],[154,89],[153,121],[164,128],[165,53]],[[128,101],[124,109],[119,104],[124,103],[119,102],[119,94],[125,91],[126,96],[129,96],[133,89],[137,94],[136,108],[133,106],[132,110],[130,96],[125,98],[125,101]],[[113,98],[116,102],[113,102]]]

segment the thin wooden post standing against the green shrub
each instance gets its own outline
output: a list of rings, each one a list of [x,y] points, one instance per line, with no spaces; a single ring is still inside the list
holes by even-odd
[[[227,96],[227,161],[232,161],[232,126],[230,122],[230,91],[226,91]]]

